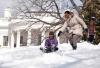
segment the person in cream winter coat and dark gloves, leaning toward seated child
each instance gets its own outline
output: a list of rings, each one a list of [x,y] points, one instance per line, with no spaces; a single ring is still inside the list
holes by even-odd
[[[75,15],[71,11],[65,11],[64,13],[64,24],[62,28],[59,30],[58,36],[66,30],[69,33],[69,41],[73,48],[73,50],[77,49],[77,43],[80,41],[81,37],[83,36],[83,28],[87,30],[87,26],[85,22],[78,16]]]

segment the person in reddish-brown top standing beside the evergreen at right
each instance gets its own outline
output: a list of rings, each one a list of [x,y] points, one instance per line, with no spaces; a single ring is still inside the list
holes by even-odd
[[[94,35],[95,35],[95,18],[91,18],[89,24],[88,24],[88,41],[90,43],[93,43]]]

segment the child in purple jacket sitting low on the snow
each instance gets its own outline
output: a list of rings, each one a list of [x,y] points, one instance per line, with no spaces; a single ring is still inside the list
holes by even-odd
[[[54,32],[50,31],[49,37],[45,41],[45,49],[40,48],[40,50],[42,50],[45,53],[54,52],[58,50],[57,45],[58,45],[58,41],[54,36]]]

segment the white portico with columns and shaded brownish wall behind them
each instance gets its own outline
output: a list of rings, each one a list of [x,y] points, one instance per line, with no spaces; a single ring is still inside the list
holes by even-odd
[[[13,24],[9,31],[9,46],[11,48],[19,48],[22,46],[40,45],[41,31],[39,30],[40,27],[36,28],[36,26],[37,24],[34,25],[34,27],[32,26],[31,28],[26,29],[27,25],[23,24],[17,26]]]

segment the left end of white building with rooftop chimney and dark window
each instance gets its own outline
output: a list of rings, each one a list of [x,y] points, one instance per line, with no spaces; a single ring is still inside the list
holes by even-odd
[[[0,47],[8,46],[8,28],[10,24],[10,9],[5,9],[4,17],[0,18]]]

